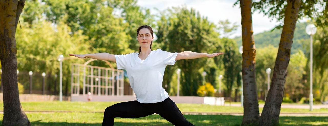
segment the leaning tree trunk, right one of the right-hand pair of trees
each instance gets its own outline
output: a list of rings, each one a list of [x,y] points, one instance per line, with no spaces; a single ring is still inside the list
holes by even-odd
[[[300,0],[288,0],[285,11],[284,25],[282,28],[276,63],[263,112],[258,121],[259,125],[272,126],[279,123],[279,113],[284,86],[287,76],[287,66],[290,59],[294,31],[298,19]]]

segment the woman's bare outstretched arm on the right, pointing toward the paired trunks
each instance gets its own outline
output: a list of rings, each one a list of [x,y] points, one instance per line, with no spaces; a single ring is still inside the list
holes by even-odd
[[[178,53],[175,57],[175,60],[180,60],[180,59],[197,59],[201,57],[208,57],[208,58],[213,58],[215,56],[218,56],[223,53],[196,53],[196,52],[191,52],[191,51],[185,51]]]

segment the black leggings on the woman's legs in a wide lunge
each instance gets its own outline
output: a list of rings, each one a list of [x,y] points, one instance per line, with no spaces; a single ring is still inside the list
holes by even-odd
[[[175,126],[194,126],[182,115],[170,97],[157,103],[143,104],[135,100],[114,104],[105,109],[102,125],[113,126],[115,117],[138,118],[153,115],[154,113],[162,116]]]

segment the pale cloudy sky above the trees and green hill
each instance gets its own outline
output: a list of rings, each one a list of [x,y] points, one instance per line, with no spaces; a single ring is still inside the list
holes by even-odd
[[[138,0],[137,5],[150,9],[152,14],[158,14],[159,11],[164,11],[172,7],[186,6],[188,9],[193,8],[202,16],[206,16],[209,21],[218,25],[219,21],[228,19],[230,22],[239,25],[234,34],[229,38],[241,36],[241,13],[240,6],[237,4],[233,7],[236,0]],[[262,12],[255,11],[252,14],[253,31],[255,34],[263,31],[272,30],[277,23],[276,19],[269,18]]]

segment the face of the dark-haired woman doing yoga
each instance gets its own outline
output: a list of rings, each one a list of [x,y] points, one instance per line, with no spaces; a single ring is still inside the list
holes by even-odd
[[[141,48],[150,47],[150,44],[152,43],[153,39],[154,37],[147,28],[143,28],[139,31],[138,42]]]

